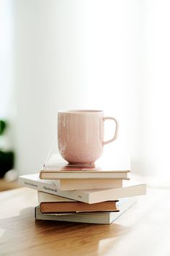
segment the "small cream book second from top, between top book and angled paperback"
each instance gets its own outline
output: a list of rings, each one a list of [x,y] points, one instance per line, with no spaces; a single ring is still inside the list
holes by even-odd
[[[53,179],[53,183],[62,191],[122,187],[122,179]]]

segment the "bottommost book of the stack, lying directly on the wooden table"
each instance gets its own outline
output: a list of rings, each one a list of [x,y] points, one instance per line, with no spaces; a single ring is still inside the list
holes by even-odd
[[[39,206],[35,208],[35,219],[43,221],[71,221],[81,223],[110,224],[125,213],[128,208],[134,205],[134,197],[123,198],[117,202],[118,212],[94,212],[94,213],[72,213],[72,214],[45,214],[40,212]]]

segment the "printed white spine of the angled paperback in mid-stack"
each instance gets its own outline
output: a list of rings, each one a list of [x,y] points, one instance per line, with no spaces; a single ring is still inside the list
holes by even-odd
[[[30,187],[30,189],[37,189],[42,192],[46,192],[52,195],[59,195],[61,197],[67,197],[73,200],[78,200],[80,202],[89,203],[88,195],[81,191],[61,191],[55,184],[45,184],[42,182],[37,182],[35,180],[25,179],[19,177],[19,184],[23,187]]]

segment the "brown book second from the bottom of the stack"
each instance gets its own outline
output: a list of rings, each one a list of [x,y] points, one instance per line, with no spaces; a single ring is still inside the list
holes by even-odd
[[[41,213],[111,212],[117,211],[117,201],[98,202],[90,205],[86,202],[79,202],[38,191],[38,203]]]

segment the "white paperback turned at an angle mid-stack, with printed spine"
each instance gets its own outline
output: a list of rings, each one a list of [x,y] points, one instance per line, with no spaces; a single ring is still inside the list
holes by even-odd
[[[95,203],[114,201],[122,197],[146,195],[146,184],[135,181],[123,181],[122,187],[113,189],[84,189],[61,191],[51,180],[40,179],[39,174],[19,176],[19,184],[42,192],[67,197],[80,202]]]

